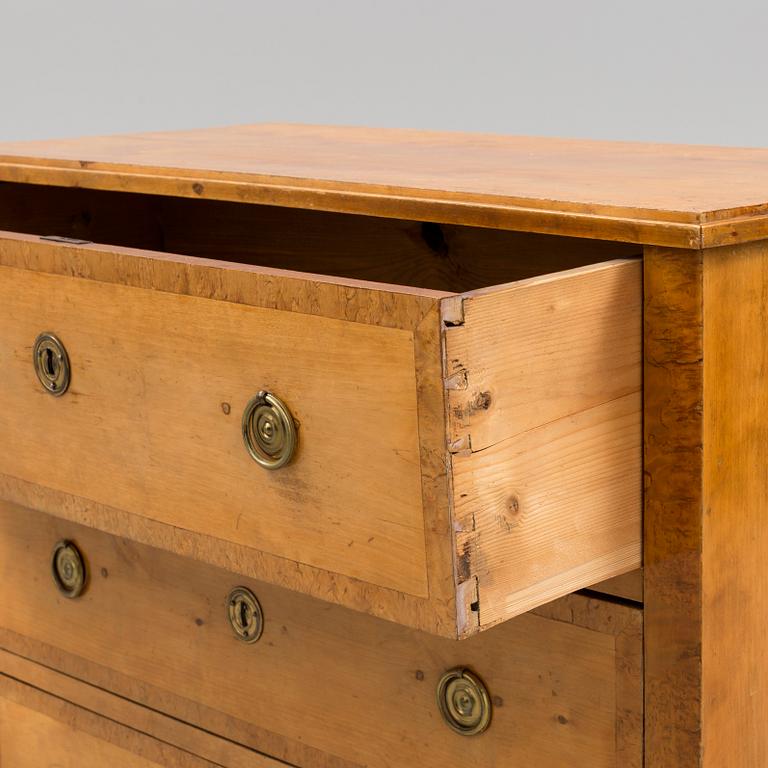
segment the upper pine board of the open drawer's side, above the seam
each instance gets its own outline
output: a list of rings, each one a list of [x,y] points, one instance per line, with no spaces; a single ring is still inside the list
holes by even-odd
[[[480,451],[640,392],[641,261],[542,275],[462,299],[464,320],[446,331],[447,376],[466,378],[466,388],[449,390],[452,440]]]

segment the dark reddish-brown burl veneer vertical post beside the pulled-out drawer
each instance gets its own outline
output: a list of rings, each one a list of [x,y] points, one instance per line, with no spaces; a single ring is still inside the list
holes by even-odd
[[[645,755],[700,768],[703,258],[648,248],[644,263]]]

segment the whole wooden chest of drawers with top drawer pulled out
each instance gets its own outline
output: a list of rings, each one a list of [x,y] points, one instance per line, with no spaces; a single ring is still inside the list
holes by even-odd
[[[0,146],[0,765],[763,766],[767,193],[758,150]]]

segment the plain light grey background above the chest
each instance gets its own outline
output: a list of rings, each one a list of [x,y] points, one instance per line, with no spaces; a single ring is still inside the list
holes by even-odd
[[[768,145],[768,2],[0,0],[0,140],[289,121]]]

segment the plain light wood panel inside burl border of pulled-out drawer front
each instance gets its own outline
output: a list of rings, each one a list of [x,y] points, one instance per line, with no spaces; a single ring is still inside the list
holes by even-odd
[[[426,596],[409,331],[0,268],[0,472],[281,558]],[[32,346],[64,343],[69,390]],[[245,449],[259,390],[284,400],[298,453]]]

